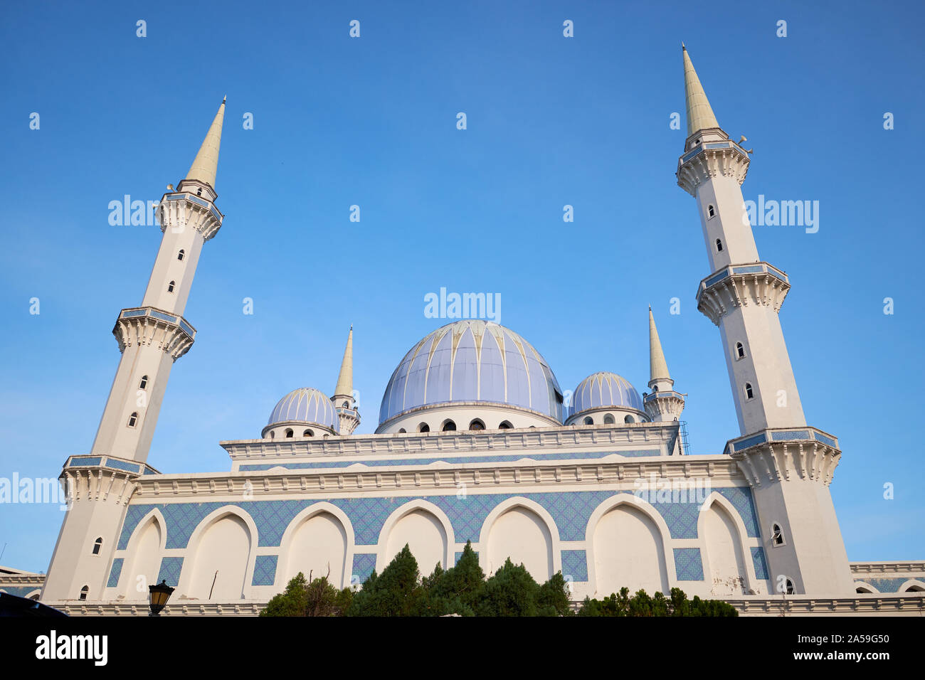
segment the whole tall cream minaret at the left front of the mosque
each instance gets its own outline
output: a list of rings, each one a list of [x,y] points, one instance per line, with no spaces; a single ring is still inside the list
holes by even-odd
[[[146,464],[170,367],[189,351],[196,331],[183,318],[203,243],[222,225],[216,208],[216,168],[225,101],[205,135],[186,179],[158,206],[160,250],[142,306],[116,320],[122,357],[90,455],[68,458],[61,481],[68,513],[45,578],[42,600],[101,600],[133,480]],[[130,577],[130,575],[126,575]],[[138,599],[146,597],[146,589]]]

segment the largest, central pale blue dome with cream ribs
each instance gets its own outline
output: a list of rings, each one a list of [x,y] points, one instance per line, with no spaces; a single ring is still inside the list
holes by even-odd
[[[562,390],[546,360],[508,328],[464,319],[405,354],[388,381],[379,425],[428,404],[508,403],[562,422]]]

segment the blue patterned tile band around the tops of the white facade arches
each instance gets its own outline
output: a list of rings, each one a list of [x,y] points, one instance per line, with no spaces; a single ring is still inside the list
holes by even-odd
[[[742,516],[747,535],[757,537],[758,520],[752,504],[751,490],[742,487],[715,489],[728,499]],[[629,493],[620,491],[618,493]],[[470,494],[459,498],[455,494],[446,496],[425,496],[425,501],[434,503],[450,518],[450,524],[458,542],[477,541],[482,525],[500,502],[514,494]],[[587,522],[598,505],[615,494],[612,491],[569,491],[522,494],[545,508],[559,529],[562,540],[584,540]],[[296,514],[318,501],[327,501],[341,509],[351,520],[357,545],[375,545],[382,525],[388,515],[409,498],[360,497],[349,499],[297,499],[292,501],[242,501],[237,505],[253,517],[257,525],[258,542],[261,548],[277,547],[283,532]],[[652,506],[661,514],[668,525],[672,538],[697,538],[697,519],[700,504],[696,499],[689,502],[656,501]],[[203,518],[218,508],[228,505],[226,501],[204,503],[156,503],[132,505],[126,513],[125,523],[119,536],[118,549],[124,550],[131,532],[144,515],[158,508],[166,519],[166,548],[186,548],[193,530]]]

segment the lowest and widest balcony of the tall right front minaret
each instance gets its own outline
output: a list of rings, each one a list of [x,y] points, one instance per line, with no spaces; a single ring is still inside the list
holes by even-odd
[[[842,457],[838,439],[815,427],[776,427],[726,442],[723,454],[738,465],[748,484],[804,479],[829,485]]]

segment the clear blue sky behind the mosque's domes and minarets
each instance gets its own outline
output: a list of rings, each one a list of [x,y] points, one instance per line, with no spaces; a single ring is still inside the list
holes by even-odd
[[[424,315],[440,287],[500,293],[501,323],[563,389],[598,370],[645,389],[651,303],[693,451],[721,452],[738,427],[694,299],[709,274],[695,203],[673,175],[685,41],[722,127],[755,150],[746,199],[820,202],[818,233],[756,240],[793,283],[782,322],[808,421],[844,450],[848,556],[925,559],[922,8],[805,5],[6,3],[0,476],[56,477],[90,449],[111,328],[141,303],[160,241],[110,226],[107,204],[181,179],[226,93],[227,217],[203,249],[186,310],[199,335],[170,376],[154,467],[227,470],[219,440],[259,437],[290,389],[334,388],[351,323],[371,432],[402,355],[444,323]],[[61,519],[0,506],[2,563],[43,571]]]

